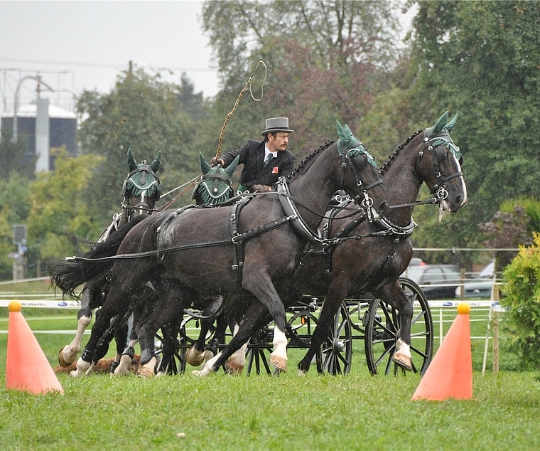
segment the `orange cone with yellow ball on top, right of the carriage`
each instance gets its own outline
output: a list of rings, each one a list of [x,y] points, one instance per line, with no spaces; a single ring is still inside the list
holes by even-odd
[[[433,357],[412,400],[442,401],[473,398],[473,359],[470,353],[470,305],[458,305],[455,318]]]

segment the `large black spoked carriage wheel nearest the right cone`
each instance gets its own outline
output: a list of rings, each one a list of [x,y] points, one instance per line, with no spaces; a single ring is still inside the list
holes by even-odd
[[[411,302],[415,303],[411,322],[411,356],[414,373],[426,372],[433,354],[433,320],[426,296],[413,280],[400,277],[401,287]],[[365,353],[367,367],[372,374],[394,374],[400,370],[392,362],[399,338],[401,319],[399,312],[381,299],[373,299],[365,324]]]

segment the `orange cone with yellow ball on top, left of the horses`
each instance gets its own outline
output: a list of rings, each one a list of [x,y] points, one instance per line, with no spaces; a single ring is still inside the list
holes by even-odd
[[[21,303],[11,301],[8,309],[6,388],[29,391],[36,395],[48,391],[63,394],[53,368],[21,313]]]

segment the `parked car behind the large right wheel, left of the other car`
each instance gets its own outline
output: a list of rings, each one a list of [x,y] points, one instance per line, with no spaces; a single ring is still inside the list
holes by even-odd
[[[461,280],[455,265],[409,265],[404,276],[418,283],[427,299],[455,299]]]

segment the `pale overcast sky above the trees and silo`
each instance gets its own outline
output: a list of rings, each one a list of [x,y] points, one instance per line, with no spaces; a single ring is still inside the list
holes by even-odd
[[[55,90],[109,92],[130,60],[173,70],[174,82],[185,72],[196,92],[215,95],[201,11],[202,1],[0,0],[0,112],[13,111],[23,77],[40,73]],[[36,98],[34,80],[21,84],[19,98],[20,105]]]

